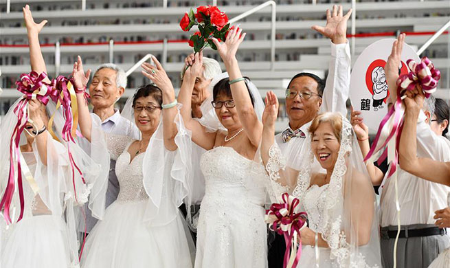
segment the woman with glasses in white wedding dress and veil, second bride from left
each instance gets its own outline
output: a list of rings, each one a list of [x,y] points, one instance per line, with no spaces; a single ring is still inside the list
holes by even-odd
[[[183,133],[172,135],[166,127],[175,124],[175,91],[158,60],[152,60],[156,67],[143,66],[143,74],[156,85],[139,88],[122,111],[128,120],[134,119],[140,140],[104,133],[100,118],[91,118],[86,102],[81,102],[83,93],[77,93],[82,135],[92,143],[106,143],[105,154],[117,159],[120,182],[117,200],[87,238],[82,267],[192,267],[194,245],[178,210],[186,192],[182,166],[187,160],[177,150]],[[80,58],[73,75],[76,87],[85,88],[89,76]],[[106,183],[104,187],[105,192]]]

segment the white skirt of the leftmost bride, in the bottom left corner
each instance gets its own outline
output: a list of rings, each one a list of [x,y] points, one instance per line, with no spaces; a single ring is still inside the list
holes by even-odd
[[[67,227],[52,215],[31,216],[19,221],[1,239],[1,268],[70,267]]]

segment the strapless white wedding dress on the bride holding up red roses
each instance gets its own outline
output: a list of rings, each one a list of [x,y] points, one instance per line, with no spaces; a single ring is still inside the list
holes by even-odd
[[[201,156],[205,197],[197,228],[196,268],[267,267],[264,179],[231,147]]]

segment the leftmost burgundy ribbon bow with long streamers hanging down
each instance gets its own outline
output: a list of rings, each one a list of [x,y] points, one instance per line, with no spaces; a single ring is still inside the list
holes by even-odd
[[[23,196],[23,181],[22,170],[25,170],[25,179],[29,181],[32,190],[36,193],[38,190],[36,181],[30,176],[30,172],[27,168],[27,164],[21,157],[21,151],[19,148],[19,142],[21,133],[25,129],[25,125],[28,122],[28,102],[29,100],[39,100],[43,104],[47,104],[50,98],[54,98],[56,93],[51,85],[47,84],[43,80],[47,77],[47,74],[41,73],[38,75],[35,71],[30,74],[22,74],[21,79],[16,82],[17,90],[24,94],[23,98],[19,100],[17,106],[14,108],[14,114],[17,116],[17,123],[14,126],[12,135],[10,137],[10,172],[8,175],[8,183],[5,188],[5,192],[1,197],[0,210],[3,210],[3,217],[6,223],[12,223],[10,216],[10,205],[12,203],[12,197],[14,194],[15,184],[19,190],[19,202],[20,202],[20,214],[17,221],[19,222],[23,218],[23,209],[25,207],[25,200]],[[14,215],[13,215],[14,217]]]

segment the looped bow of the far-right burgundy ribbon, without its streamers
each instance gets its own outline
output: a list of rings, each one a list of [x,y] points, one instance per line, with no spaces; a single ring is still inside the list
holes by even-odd
[[[411,71],[408,74],[403,74],[397,80],[397,87],[401,87],[402,95],[405,90],[411,91],[420,85],[425,93],[425,97],[429,98],[431,93],[436,91],[438,80],[440,79],[440,71],[434,67],[431,60],[427,57],[423,57],[420,63],[409,59],[406,61],[406,64]]]

